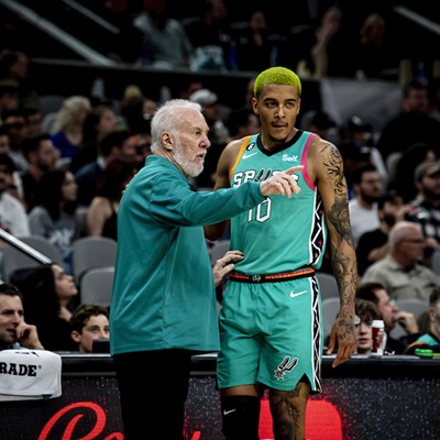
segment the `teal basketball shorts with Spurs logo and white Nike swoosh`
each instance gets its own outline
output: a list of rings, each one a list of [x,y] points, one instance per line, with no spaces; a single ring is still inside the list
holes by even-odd
[[[321,392],[321,301],[316,277],[227,283],[220,310],[220,389],[263,384],[290,391],[307,376]]]

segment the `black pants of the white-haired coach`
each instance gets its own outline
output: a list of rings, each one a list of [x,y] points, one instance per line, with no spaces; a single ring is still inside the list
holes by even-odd
[[[157,350],[113,356],[127,440],[182,440],[193,352]]]

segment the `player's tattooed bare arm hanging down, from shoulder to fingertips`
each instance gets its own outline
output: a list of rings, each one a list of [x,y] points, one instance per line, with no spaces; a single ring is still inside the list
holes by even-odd
[[[316,139],[308,163],[321,195],[329,229],[329,251],[333,274],[338,282],[340,309],[330,333],[327,354],[338,343],[333,361],[337,366],[351,358],[355,350],[354,297],[358,284],[356,255],[350,228],[349,198],[343,175],[342,157],[330,142]]]

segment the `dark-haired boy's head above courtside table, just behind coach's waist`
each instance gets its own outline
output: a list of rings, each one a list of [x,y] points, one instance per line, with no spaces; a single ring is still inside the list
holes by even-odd
[[[110,339],[109,311],[95,304],[80,304],[70,318],[72,339],[80,353],[92,353],[94,340]]]

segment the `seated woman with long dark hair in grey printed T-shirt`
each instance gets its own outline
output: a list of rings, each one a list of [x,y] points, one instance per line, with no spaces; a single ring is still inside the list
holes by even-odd
[[[35,205],[29,213],[31,233],[46,238],[58,249],[67,273],[72,273],[72,246],[80,234],[76,207],[74,175],[68,170],[51,169],[40,179]]]

